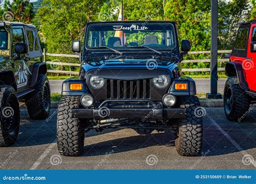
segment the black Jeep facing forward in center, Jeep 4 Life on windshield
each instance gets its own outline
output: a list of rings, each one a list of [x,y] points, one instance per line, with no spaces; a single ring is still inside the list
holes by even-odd
[[[63,82],[58,108],[58,150],[77,156],[92,129],[134,129],[139,135],[170,130],[180,155],[198,155],[203,116],[195,82],[181,74],[181,52],[173,22],[91,22],[73,52],[81,55],[79,79]]]

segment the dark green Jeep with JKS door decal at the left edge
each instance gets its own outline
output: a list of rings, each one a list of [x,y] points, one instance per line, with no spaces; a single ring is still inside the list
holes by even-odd
[[[50,110],[50,84],[36,27],[0,22],[0,147],[15,143],[19,132],[19,102],[32,119]]]

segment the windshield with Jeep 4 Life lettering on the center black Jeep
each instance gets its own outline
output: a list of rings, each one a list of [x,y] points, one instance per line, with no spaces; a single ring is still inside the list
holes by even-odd
[[[87,29],[86,48],[107,46],[127,49],[147,46],[157,50],[177,47],[171,23],[91,24]]]

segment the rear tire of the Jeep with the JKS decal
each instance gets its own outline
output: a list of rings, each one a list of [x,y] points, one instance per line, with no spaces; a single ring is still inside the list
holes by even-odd
[[[46,75],[39,74],[35,91],[27,97],[26,106],[28,107],[31,119],[46,119],[49,116],[51,106],[50,83]]]

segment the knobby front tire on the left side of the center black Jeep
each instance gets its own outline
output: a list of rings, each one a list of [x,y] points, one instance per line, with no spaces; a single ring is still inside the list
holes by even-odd
[[[76,157],[84,149],[84,129],[77,118],[72,118],[71,109],[80,106],[79,97],[65,96],[60,101],[57,119],[59,153]]]

